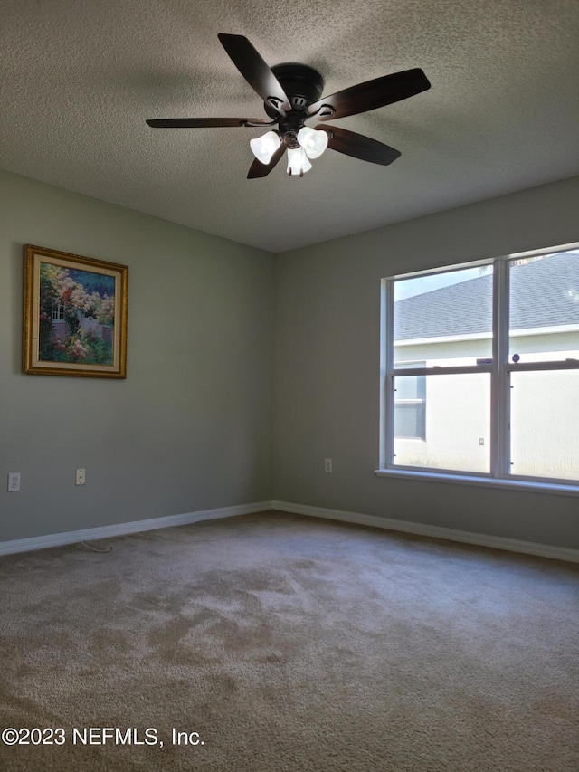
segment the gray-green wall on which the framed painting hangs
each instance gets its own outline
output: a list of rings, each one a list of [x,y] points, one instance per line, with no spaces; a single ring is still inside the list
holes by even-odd
[[[0,199],[0,542],[271,500],[271,254],[4,172]],[[129,266],[126,380],[22,374],[24,243]]]

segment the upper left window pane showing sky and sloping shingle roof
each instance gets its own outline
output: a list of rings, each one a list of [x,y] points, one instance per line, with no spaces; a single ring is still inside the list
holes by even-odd
[[[491,335],[492,266],[394,281],[394,367],[475,365]]]

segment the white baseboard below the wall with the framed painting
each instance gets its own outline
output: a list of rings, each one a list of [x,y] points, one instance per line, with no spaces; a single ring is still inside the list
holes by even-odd
[[[75,544],[79,541],[94,541],[95,539],[110,538],[112,536],[125,536],[126,534],[138,533],[143,530],[172,528],[173,526],[196,523],[200,520],[231,518],[233,515],[249,515],[252,512],[263,512],[272,509],[272,501],[260,501],[256,504],[240,504],[235,507],[222,507],[217,510],[185,512],[182,515],[168,515],[165,518],[135,520],[130,523],[117,523],[110,526],[100,526],[99,528],[71,530],[67,533],[51,533],[46,536],[36,536],[33,538],[17,538],[14,541],[0,542],[0,555],[10,555],[14,552],[29,552],[32,549],[62,547],[64,544]]]

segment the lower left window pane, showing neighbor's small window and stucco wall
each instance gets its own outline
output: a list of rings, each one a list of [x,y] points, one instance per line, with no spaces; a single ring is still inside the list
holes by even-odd
[[[424,442],[403,434],[410,419],[395,402],[399,382],[412,377],[394,377],[394,463],[490,472],[489,373],[424,377]]]

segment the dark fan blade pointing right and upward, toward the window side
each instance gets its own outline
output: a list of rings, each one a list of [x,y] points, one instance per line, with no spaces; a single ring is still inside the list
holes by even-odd
[[[375,78],[374,81],[358,83],[344,91],[337,91],[328,97],[310,104],[309,115],[316,116],[318,120],[330,120],[333,118],[346,118],[346,115],[357,115],[367,110],[375,110],[384,105],[392,104],[399,100],[405,100],[430,89],[431,84],[419,67],[403,72],[394,72],[392,75],[384,75]],[[330,108],[324,110],[325,107]]]

